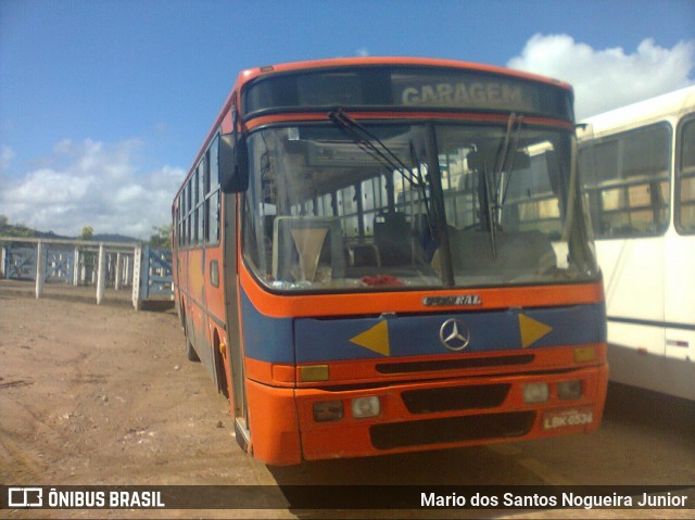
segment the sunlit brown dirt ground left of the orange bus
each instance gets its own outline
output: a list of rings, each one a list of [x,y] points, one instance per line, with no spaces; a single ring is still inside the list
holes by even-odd
[[[0,280],[0,483],[269,483],[237,446],[226,398],[186,360],[174,309],[33,289]]]

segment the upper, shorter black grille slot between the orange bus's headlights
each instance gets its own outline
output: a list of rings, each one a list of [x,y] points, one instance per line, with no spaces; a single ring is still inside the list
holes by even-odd
[[[407,390],[401,395],[410,414],[494,408],[504,403],[511,384]]]

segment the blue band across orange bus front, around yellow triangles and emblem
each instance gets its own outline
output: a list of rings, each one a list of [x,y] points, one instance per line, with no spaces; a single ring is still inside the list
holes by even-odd
[[[521,350],[520,313],[553,329],[527,350],[606,341],[603,304],[387,318],[293,319],[261,314],[242,291],[241,313],[247,356],[268,363],[384,358],[350,341],[383,319],[388,322],[390,357]],[[440,328],[448,318],[458,319],[470,332],[470,342],[460,353],[448,351],[440,341]]]

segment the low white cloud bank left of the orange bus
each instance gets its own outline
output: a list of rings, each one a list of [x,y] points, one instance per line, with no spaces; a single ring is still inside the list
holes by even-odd
[[[92,226],[96,233],[148,239],[153,227],[168,223],[185,172],[172,166],[143,172],[141,148],[135,139],[62,140],[43,167],[3,178],[0,213],[11,223],[59,234],[77,236]]]

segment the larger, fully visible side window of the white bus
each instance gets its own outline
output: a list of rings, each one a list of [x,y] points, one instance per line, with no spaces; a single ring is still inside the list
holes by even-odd
[[[666,231],[670,138],[670,126],[658,124],[582,149],[582,180],[597,238],[649,237]]]

